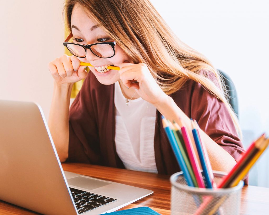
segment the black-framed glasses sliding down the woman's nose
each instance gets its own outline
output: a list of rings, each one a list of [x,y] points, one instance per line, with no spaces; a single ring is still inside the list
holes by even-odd
[[[67,42],[70,38],[73,37],[72,32],[63,42],[63,45],[72,53],[79,58],[85,58],[87,49],[90,49],[91,52],[99,58],[112,58],[115,55],[116,42],[97,42],[93,44],[83,45],[75,42]]]

